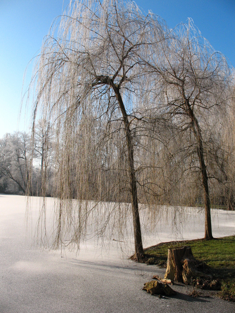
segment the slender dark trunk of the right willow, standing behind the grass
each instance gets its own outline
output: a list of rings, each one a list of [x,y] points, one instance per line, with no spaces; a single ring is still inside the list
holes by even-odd
[[[201,170],[201,182],[204,192],[204,206],[205,206],[205,239],[213,239],[212,236],[212,225],[211,225],[211,204],[210,204],[210,197],[209,197],[209,187],[208,187],[208,177],[206,172],[206,164],[204,162],[204,154],[203,154],[203,143],[201,137],[201,129],[199,123],[194,115],[194,112],[187,101],[187,109],[189,116],[191,117],[191,121],[193,126],[195,126],[196,130],[194,129],[194,134],[196,136],[197,141],[197,155],[200,162],[200,170]]]

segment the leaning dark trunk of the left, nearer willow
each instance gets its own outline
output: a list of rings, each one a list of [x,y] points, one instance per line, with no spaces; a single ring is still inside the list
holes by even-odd
[[[129,121],[127,112],[125,110],[122,97],[120,95],[119,89],[115,86],[112,86],[115,92],[115,95],[118,99],[118,104],[122,111],[123,121],[125,126],[126,141],[127,141],[127,150],[128,150],[128,172],[129,172],[129,181],[130,181],[130,190],[131,190],[131,206],[133,214],[133,228],[134,228],[134,241],[135,241],[135,259],[136,261],[141,261],[144,256],[142,236],[141,236],[141,227],[139,220],[139,210],[138,210],[138,199],[137,199],[137,188],[136,188],[136,178],[134,170],[134,157],[133,157],[133,137],[129,127]]]

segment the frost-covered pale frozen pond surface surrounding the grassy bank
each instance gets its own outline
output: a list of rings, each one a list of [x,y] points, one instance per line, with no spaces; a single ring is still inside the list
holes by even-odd
[[[48,210],[51,208],[48,199]],[[40,251],[26,236],[23,196],[0,195],[0,312],[234,312],[235,304],[217,298],[191,298],[191,287],[174,286],[174,298],[159,299],[141,290],[152,274],[164,269],[136,264],[127,259],[133,253],[133,238],[119,243],[114,235],[103,246],[96,239],[82,245],[80,253]],[[32,224],[39,201],[32,198]],[[187,223],[179,232],[157,223],[151,231],[143,225],[144,247],[175,239],[196,239],[204,235],[203,213],[187,209]],[[165,220],[164,218],[162,220]],[[212,210],[214,237],[235,234],[235,212]],[[28,239],[26,239],[28,237]],[[122,252],[123,251],[123,252]]]

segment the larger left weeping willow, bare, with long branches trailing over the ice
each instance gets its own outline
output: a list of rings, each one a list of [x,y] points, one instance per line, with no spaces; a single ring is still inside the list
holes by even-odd
[[[32,138],[38,117],[57,138],[55,247],[65,238],[79,246],[92,214],[102,221],[100,233],[111,216],[122,228],[128,209],[122,202],[130,202],[135,257],[143,257],[135,131],[149,112],[142,110],[146,76],[140,55],[153,44],[158,47],[166,33],[162,20],[152,13],[144,16],[135,3],[91,0],[71,2],[44,38],[30,85],[35,95]]]

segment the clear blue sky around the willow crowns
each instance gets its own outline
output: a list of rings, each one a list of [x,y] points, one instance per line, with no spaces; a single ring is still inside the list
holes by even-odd
[[[235,67],[235,0],[136,0],[170,28],[192,18],[215,50]],[[24,70],[39,52],[53,19],[69,0],[0,0],[0,137],[24,129],[18,126]],[[28,82],[31,72],[28,71]],[[24,115],[24,112],[23,112]],[[27,130],[27,129],[25,129]]]

